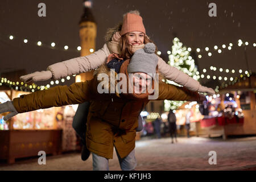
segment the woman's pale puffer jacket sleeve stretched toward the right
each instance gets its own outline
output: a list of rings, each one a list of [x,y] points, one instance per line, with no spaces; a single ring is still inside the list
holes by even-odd
[[[168,80],[185,86],[189,90],[199,91],[201,86],[199,81],[188,76],[186,73],[179,71],[179,69],[170,66],[161,57],[158,58],[158,71],[162,73]]]

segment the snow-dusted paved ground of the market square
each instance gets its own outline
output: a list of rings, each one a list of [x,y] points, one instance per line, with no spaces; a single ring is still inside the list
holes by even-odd
[[[210,165],[209,151],[216,151],[217,164]],[[233,138],[171,138],[136,142],[136,170],[256,170],[256,137]],[[109,160],[110,170],[120,170],[117,155]],[[47,156],[46,165],[38,158],[0,164],[1,170],[92,170],[92,155],[85,162],[79,153]]]

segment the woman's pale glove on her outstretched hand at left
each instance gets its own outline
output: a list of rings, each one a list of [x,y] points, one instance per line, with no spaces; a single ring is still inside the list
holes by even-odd
[[[51,71],[42,71],[42,72],[34,72],[28,75],[24,75],[19,77],[20,80],[24,81],[25,83],[30,81],[46,81],[52,77]]]

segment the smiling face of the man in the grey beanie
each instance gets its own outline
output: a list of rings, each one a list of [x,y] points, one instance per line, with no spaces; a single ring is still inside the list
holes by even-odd
[[[133,92],[136,94],[146,93],[146,89],[152,84],[152,77],[146,73],[133,73]]]

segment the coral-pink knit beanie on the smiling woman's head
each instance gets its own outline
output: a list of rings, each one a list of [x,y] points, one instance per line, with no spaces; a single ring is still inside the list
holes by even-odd
[[[133,31],[143,32],[144,34],[146,34],[146,30],[142,22],[142,17],[137,14],[127,13],[123,17],[123,25],[120,35],[122,36],[127,34],[128,32]]]

